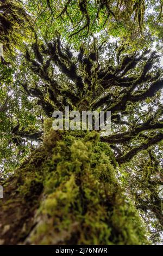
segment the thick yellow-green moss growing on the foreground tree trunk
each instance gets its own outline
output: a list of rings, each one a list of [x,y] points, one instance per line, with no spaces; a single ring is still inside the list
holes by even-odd
[[[47,133],[42,199],[25,243],[146,244],[141,219],[116,180],[110,147],[96,132],[84,134]]]

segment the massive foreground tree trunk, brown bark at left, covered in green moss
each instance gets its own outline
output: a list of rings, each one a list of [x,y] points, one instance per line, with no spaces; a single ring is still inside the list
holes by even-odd
[[[3,184],[0,243],[147,243],[115,167],[109,146],[96,132],[49,131],[43,145]]]

